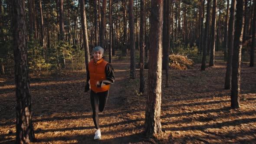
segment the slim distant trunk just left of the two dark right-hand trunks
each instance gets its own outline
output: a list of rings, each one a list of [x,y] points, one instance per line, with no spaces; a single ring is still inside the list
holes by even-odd
[[[228,35],[227,35],[227,29],[228,29],[228,21],[229,21],[229,7],[230,7],[230,0],[227,0],[226,1],[227,4],[226,4],[226,21],[225,21],[225,27],[224,27],[224,40],[223,40],[223,51],[224,51],[224,61],[227,60],[227,49],[228,49],[228,45],[227,45],[227,40],[228,40]]]

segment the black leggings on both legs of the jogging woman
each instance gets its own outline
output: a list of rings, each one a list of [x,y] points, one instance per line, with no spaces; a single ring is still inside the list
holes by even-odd
[[[99,129],[98,111],[104,111],[104,108],[107,105],[108,91],[95,93],[91,90],[90,95],[92,105],[92,119],[95,124],[95,128]]]

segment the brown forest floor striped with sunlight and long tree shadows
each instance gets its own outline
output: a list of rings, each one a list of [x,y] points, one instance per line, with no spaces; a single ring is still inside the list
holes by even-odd
[[[137,79],[129,79],[129,58],[113,59],[115,84],[100,113],[102,139],[94,141],[89,92],[84,71],[62,76],[31,77],[35,144],[49,143],[256,143],[256,66],[241,65],[239,109],[230,108],[230,90],[224,90],[226,63],[216,56],[213,67],[163,72],[162,134],[145,137],[147,93],[137,96]],[[218,60],[219,59],[219,60]],[[148,70],[145,70],[147,92]],[[15,142],[15,83],[0,78],[0,143]]]

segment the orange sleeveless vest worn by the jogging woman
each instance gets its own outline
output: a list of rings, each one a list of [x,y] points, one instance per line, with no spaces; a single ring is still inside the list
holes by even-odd
[[[102,80],[106,79],[105,66],[107,64],[108,64],[108,62],[106,62],[103,59],[100,59],[96,63],[93,59],[88,64],[88,69],[89,69],[89,73],[90,73],[90,86],[91,86],[91,90],[95,93],[105,92],[105,91],[109,90],[109,88],[110,88],[110,85],[105,85],[102,87],[96,86],[97,81],[101,82]]]

